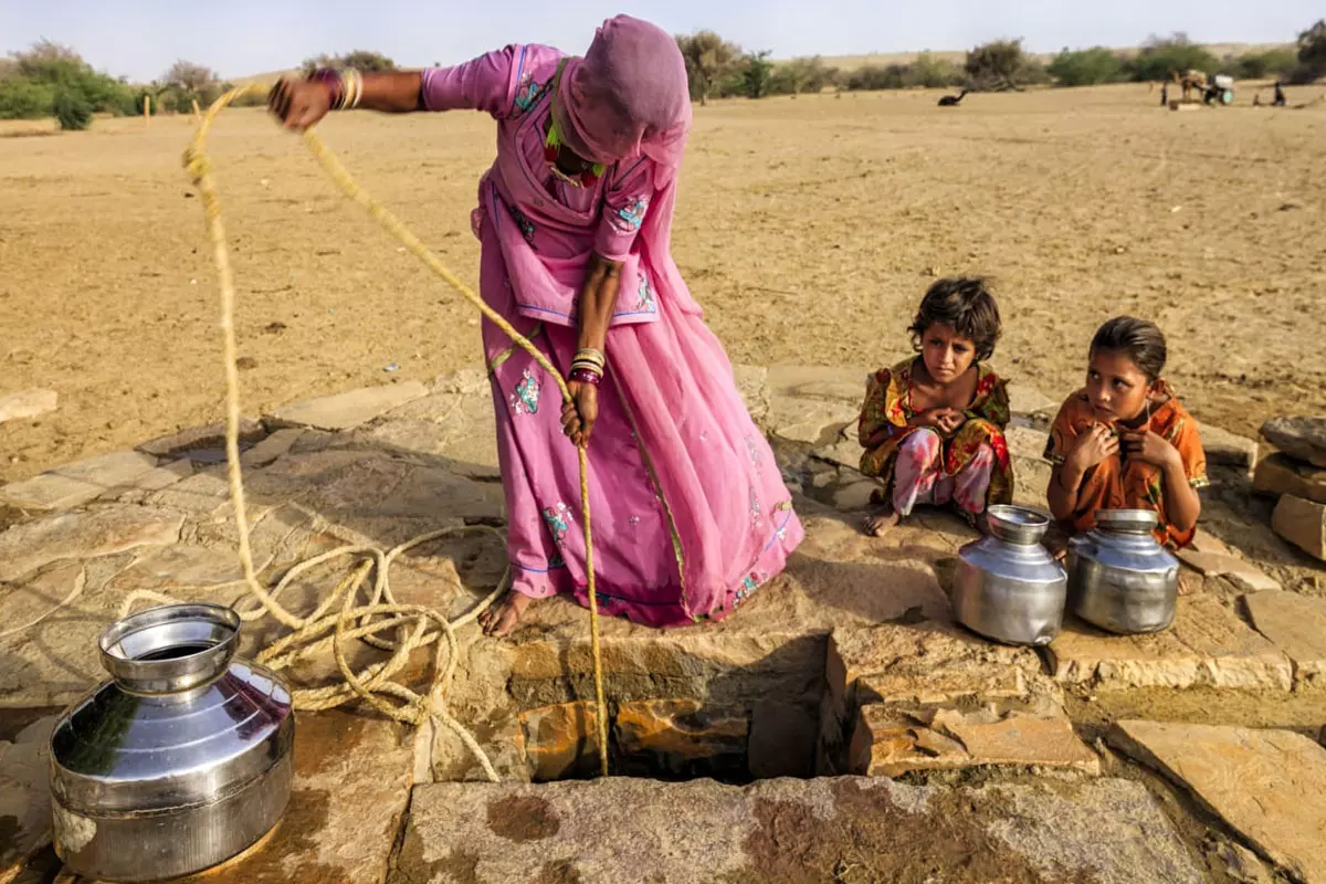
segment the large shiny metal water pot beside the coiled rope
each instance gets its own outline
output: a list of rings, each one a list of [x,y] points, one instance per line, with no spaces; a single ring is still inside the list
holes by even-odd
[[[113,623],[113,676],[50,736],[56,852],[91,880],[199,872],[256,843],[290,797],[294,716],[272,672],[235,659],[240,618],[168,604]]]

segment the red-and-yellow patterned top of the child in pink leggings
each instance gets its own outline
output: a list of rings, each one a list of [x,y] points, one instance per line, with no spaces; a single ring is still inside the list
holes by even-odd
[[[916,429],[907,425],[919,414],[912,404],[912,370],[916,360],[907,359],[874,374],[866,386],[866,402],[857,421],[858,441],[866,448],[861,456],[861,472],[884,480],[883,500],[892,498],[898,447]],[[977,366],[976,371],[976,394],[965,410],[967,423],[944,437],[943,474],[957,476],[972,461],[981,444],[988,444],[994,451],[994,468],[985,502],[1008,504],[1013,500],[1013,464],[1004,439],[1004,428],[1009,421],[1008,384],[988,366]],[[887,439],[869,448],[871,439],[880,431],[887,431]]]

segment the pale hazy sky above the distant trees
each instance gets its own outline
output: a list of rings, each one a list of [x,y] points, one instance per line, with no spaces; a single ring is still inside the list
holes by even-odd
[[[582,52],[607,16],[668,30],[711,28],[774,57],[965,49],[994,37],[1026,48],[1131,46],[1187,30],[1205,42],[1292,41],[1322,0],[0,0],[0,54],[49,37],[133,80],[176,58],[241,77],[318,53],[374,49],[408,66],[451,64],[508,42]]]

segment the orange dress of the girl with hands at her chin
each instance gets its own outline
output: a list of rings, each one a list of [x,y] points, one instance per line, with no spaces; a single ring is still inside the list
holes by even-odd
[[[1201,451],[1201,435],[1197,421],[1183,403],[1170,392],[1170,400],[1151,411],[1151,420],[1144,424],[1154,433],[1179,449],[1183,472],[1193,488],[1205,488],[1207,456]],[[1085,391],[1067,398],[1058,416],[1050,425],[1050,440],[1045,447],[1045,459],[1054,465],[1062,465],[1073,451],[1081,433],[1098,423],[1091,403]],[[1158,542],[1181,547],[1192,542],[1196,529],[1180,531],[1166,516],[1164,474],[1159,467],[1138,460],[1127,460],[1116,455],[1087,470],[1078,492],[1078,508],[1065,527],[1073,533],[1089,531],[1095,527],[1095,514],[1102,509],[1150,509],[1160,516],[1155,538]]]

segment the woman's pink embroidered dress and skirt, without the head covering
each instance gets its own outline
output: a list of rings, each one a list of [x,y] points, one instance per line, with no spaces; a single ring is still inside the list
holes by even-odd
[[[497,121],[497,159],[472,216],[480,290],[562,372],[577,346],[575,300],[591,252],[622,262],[589,447],[602,610],[652,626],[717,619],[782,570],[801,524],[727,354],[672,261],[675,166],[643,151],[589,187],[552,175],[544,140],[562,58],[546,46],[508,46],[424,72],[424,105]],[[678,155],[680,140],[684,130]],[[579,474],[557,386],[492,323],[483,338],[513,588],[573,592],[583,603]]]

